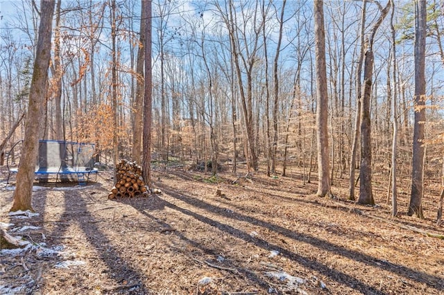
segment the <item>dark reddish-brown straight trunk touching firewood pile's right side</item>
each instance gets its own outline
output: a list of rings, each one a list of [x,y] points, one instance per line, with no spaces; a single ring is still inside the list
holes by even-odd
[[[143,1],[143,0],[142,0]],[[151,187],[151,111],[153,95],[153,73],[151,66],[151,0],[146,0],[145,9],[145,96],[144,96],[144,145],[143,145],[143,178]]]

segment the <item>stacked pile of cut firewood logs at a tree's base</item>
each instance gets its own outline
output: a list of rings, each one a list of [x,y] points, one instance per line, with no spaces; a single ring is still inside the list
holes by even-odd
[[[116,174],[116,183],[108,195],[108,199],[148,196],[148,189],[142,179],[142,168],[136,163],[122,160],[117,164]]]

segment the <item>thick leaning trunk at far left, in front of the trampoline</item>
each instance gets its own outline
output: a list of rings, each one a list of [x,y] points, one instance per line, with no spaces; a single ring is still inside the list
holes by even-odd
[[[23,154],[17,172],[17,186],[14,191],[14,203],[10,211],[26,211],[31,206],[34,170],[37,163],[39,145],[38,134],[42,127],[42,110],[46,103],[49,60],[51,59],[51,33],[55,0],[40,2],[40,27],[34,62],[33,80],[29,92],[28,119],[25,125]]]

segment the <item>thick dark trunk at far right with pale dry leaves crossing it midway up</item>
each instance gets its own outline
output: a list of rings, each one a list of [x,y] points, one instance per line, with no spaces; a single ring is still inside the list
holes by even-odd
[[[413,125],[413,159],[411,171],[411,197],[409,216],[424,218],[422,213],[423,170],[424,170],[424,123],[425,123],[425,37],[427,34],[427,3],[415,1],[415,122]]]

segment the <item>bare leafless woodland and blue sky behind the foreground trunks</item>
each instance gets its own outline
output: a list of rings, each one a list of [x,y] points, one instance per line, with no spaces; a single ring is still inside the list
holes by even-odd
[[[395,154],[395,176],[411,181],[413,118],[423,110],[425,184],[441,181],[444,7],[427,1],[425,107],[418,107],[413,103],[418,2],[324,3],[333,184],[350,177],[355,171],[350,166],[359,168],[361,150],[356,148],[355,161],[352,152],[360,143],[355,138],[368,46],[374,58],[368,89],[373,174],[386,175],[388,186]],[[26,114],[39,10],[31,0],[0,6],[0,138],[8,138],[0,150],[6,152],[24,136],[20,119]],[[111,163],[117,132],[119,158],[140,162],[141,11],[139,0],[57,1],[41,138],[96,143],[97,160]],[[261,166],[271,176],[286,175],[291,165],[302,168],[309,181],[317,170],[313,1],[160,0],[153,1],[152,13],[153,165],[229,162],[236,172],[237,163],[246,161],[248,169]]]

